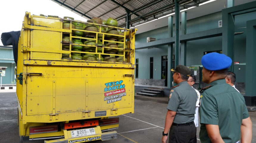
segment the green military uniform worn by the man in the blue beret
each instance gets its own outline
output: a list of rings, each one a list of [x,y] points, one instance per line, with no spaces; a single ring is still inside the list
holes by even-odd
[[[205,124],[218,125],[224,142],[235,143],[241,139],[242,120],[249,117],[243,96],[225,79],[210,83],[201,91],[200,141],[210,142]]]

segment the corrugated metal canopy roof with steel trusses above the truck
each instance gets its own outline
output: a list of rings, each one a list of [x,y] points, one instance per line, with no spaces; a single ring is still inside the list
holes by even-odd
[[[175,10],[174,0],[52,0],[61,6],[81,15],[86,19],[99,17],[107,20],[109,17],[118,20],[118,27],[125,27],[127,22],[130,26],[142,24],[164,15],[173,13]],[[199,3],[209,0],[177,0],[180,10],[198,6]]]

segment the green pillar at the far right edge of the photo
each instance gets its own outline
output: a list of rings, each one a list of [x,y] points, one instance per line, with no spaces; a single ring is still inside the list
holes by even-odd
[[[246,22],[246,66],[245,66],[245,103],[256,106],[256,20]]]

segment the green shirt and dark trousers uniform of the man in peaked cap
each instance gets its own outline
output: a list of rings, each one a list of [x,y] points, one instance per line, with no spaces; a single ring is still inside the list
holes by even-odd
[[[187,81],[182,81],[171,89],[168,110],[176,112],[171,129],[169,142],[192,143],[196,135],[194,124],[197,94]]]

